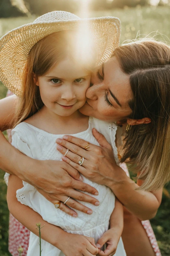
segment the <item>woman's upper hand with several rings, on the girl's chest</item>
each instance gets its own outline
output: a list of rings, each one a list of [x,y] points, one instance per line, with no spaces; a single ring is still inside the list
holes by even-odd
[[[84,150],[87,141],[64,135],[63,139],[56,140],[57,144],[59,144],[57,149],[64,155],[68,148],[69,151],[66,157],[62,157],[63,161],[69,163],[86,178],[107,186],[111,181],[113,185],[115,180],[119,179],[119,173],[121,171],[124,173],[124,171],[116,164],[112,147],[105,137],[95,128],[93,128],[92,132],[101,146],[89,144],[89,148]],[[84,157],[84,162],[80,166],[78,161],[81,157]]]

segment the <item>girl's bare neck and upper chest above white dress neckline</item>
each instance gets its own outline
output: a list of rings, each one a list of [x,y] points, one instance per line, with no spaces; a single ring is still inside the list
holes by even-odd
[[[70,116],[60,116],[46,106],[25,122],[53,134],[75,134],[87,130],[89,117],[79,111]]]

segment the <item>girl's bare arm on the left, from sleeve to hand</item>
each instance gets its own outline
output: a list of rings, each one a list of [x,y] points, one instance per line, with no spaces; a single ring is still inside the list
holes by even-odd
[[[44,221],[41,215],[36,213],[30,207],[21,204],[16,197],[17,189],[23,187],[22,180],[14,175],[9,176],[7,187],[7,204],[10,213],[22,223],[27,229],[39,236],[36,230],[36,223],[40,222],[41,238],[51,245],[64,251],[66,256],[82,256],[83,253],[89,253],[89,256],[96,255],[98,248],[94,244],[92,237],[84,237],[77,234],[69,234],[60,227]]]

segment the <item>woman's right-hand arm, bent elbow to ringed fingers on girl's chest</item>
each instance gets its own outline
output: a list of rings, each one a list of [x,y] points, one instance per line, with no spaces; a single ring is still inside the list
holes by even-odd
[[[93,129],[93,135],[101,146],[89,144],[90,148],[87,150],[84,150],[83,146],[87,145],[87,142],[73,136],[64,136],[60,142],[57,140],[57,143],[63,146],[59,150],[63,155],[66,149],[69,149],[67,157],[62,157],[63,161],[87,179],[110,187],[120,202],[139,219],[153,218],[161,203],[162,190],[156,194],[136,190],[138,185],[116,164],[112,147],[105,137],[96,129]],[[74,162],[79,156],[84,157],[83,166]]]

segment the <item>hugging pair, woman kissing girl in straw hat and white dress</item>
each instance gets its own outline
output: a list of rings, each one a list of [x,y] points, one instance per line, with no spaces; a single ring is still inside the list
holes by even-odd
[[[148,219],[170,179],[170,47],[119,46],[120,29],[53,11],[0,39],[14,94],[0,100],[0,167],[13,232],[30,231],[23,255],[39,255],[37,222],[43,256],[161,255]]]

